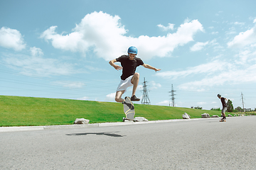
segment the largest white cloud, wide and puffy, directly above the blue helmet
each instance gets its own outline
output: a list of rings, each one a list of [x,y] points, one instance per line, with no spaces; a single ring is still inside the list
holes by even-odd
[[[203,26],[198,20],[186,22],[178,27],[176,33],[166,36],[149,37],[141,35],[138,38],[126,36],[128,30],[120,23],[119,16],[110,16],[108,13],[94,12],[87,14],[68,35],[55,32],[57,26],[51,26],[41,34],[41,38],[52,43],[53,47],[61,50],[82,52],[92,49],[97,57],[112,60],[114,57],[127,53],[127,48],[134,45],[138,48],[138,57],[166,57],[178,46],[193,41]]]

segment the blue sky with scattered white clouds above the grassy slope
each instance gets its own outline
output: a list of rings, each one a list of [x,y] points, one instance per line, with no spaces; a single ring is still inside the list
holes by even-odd
[[[112,101],[138,48],[151,104],[256,108],[255,1],[0,1],[0,94]],[[124,94],[130,96],[132,88]],[[139,103],[139,102],[137,102]]]

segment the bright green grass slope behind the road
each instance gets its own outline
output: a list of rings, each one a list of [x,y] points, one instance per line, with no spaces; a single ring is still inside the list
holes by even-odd
[[[182,119],[183,113],[201,118],[202,113],[219,115],[220,111],[134,104],[135,116],[148,120]],[[76,118],[90,123],[121,122],[121,103],[78,101],[58,98],[0,96],[0,126],[69,125]]]

